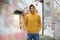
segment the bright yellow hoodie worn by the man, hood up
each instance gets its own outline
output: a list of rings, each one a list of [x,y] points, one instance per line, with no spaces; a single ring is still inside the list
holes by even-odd
[[[29,32],[29,33],[36,33],[39,32],[42,28],[42,22],[41,22],[41,17],[36,13],[36,9],[34,14],[29,13],[24,21],[24,28]]]

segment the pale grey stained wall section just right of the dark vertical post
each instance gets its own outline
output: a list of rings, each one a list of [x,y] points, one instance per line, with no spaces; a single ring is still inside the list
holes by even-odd
[[[44,34],[54,37],[54,30],[52,30],[52,16],[53,16],[53,0],[44,0]]]

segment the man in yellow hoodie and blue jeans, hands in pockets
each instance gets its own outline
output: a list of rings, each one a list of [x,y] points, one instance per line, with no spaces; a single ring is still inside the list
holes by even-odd
[[[41,17],[36,12],[34,5],[29,6],[29,14],[25,18],[24,28],[28,32],[27,40],[39,40],[39,31],[42,27]]]

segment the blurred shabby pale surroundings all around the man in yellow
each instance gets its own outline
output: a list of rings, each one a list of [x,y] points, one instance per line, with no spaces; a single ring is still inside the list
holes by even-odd
[[[0,0],[0,40],[27,40],[24,20],[31,4],[42,20],[39,40],[60,40],[59,0]]]

